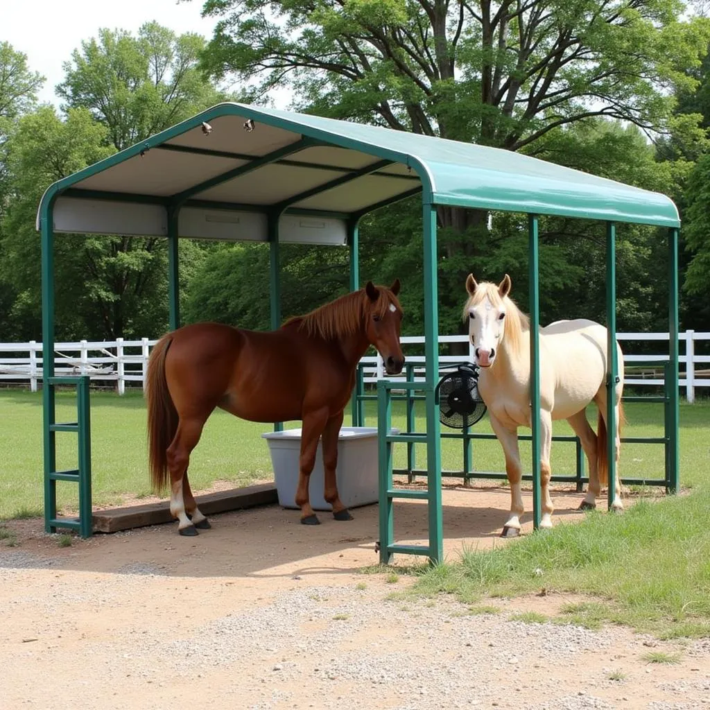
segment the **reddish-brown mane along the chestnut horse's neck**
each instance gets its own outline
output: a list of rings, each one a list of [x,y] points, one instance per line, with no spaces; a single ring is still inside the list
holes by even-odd
[[[386,286],[378,286],[376,301],[370,300],[364,288],[337,298],[312,310],[306,315],[299,315],[286,321],[284,326],[297,325],[309,336],[320,336],[325,340],[352,335],[362,328],[365,317],[369,314],[383,317],[390,304],[401,312],[397,297]]]

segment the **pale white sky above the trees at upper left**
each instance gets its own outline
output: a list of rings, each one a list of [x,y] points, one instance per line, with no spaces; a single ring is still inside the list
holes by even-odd
[[[27,55],[29,68],[47,80],[40,101],[58,106],[54,87],[64,78],[62,63],[99,28],[136,32],[155,20],[178,34],[211,38],[217,19],[203,19],[201,11],[202,0],[0,0],[0,42]]]

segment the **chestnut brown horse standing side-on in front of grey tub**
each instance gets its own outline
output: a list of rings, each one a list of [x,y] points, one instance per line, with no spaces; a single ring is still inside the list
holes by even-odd
[[[253,422],[302,420],[296,503],[301,523],[318,525],[308,496],[322,436],[324,498],[336,520],[351,520],[335,479],[338,435],[357,364],[368,346],[388,374],[402,371],[399,279],[344,295],[272,332],[196,323],[165,334],[148,361],[148,454],[153,488],[170,474],[170,513],[180,535],[209,528],[197,508],[187,465],[207,417],[219,407]]]

